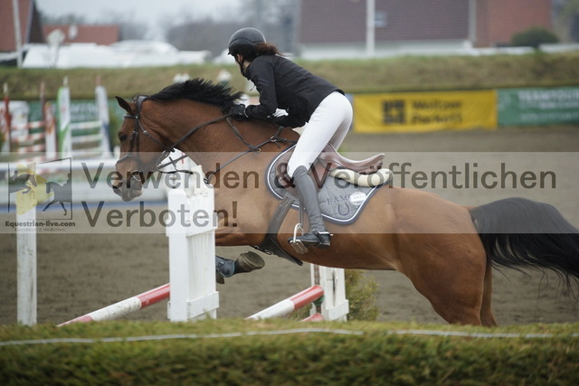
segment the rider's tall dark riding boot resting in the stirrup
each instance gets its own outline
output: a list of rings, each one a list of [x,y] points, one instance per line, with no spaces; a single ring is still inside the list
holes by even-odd
[[[319,209],[318,191],[314,180],[304,166],[299,166],[293,174],[293,184],[299,194],[299,201],[306,208],[309,220],[309,231],[296,237],[305,247],[327,248],[330,244],[330,234],[326,230],[322,213]]]

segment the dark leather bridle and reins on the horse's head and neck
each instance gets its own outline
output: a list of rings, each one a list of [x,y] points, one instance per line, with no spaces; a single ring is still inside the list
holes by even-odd
[[[247,142],[242,137],[242,134],[240,133],[239,129],[233,125],[232,115],[226,114],[226,115],[212,118],[212,119],[209,119],[207,121],[200,123],[199,125],[191,128],[189,131],[187,131],[185,133],[185,135],[180,137],[179,139],[177,139],[175,143],[173,143],[170,146],[167,146],[166,144],[163,144],[161,141],[159,141],[156,137],[151,136],[149,134],[149,132],[147,131],[147,129],[145,127],[143,127],[143,124],[142,124],[141,119],[140,119],[140,114],[141,114],[141,108],[142,108],[143,102],[147,99],[149,99],[149,97],[147,95],[139,95],[135,99],[134,113],[133,114],[126,114],[124,116],[124,118],[127,118],[127,119],[135,119],[135,127],[133,128],[133,131],[132,131],[130,138],[129,138],[128,153],[126,155],[120,157],[119,161],[117,161],[117,163],[115,165],[119,165],[120,163],[127,161],[128,159],[135,160],[135,162],[137,163],[138,170],[131,172],[131,175],[137,174],[139,172],[139,170],[141,170],[141,171],[143,170],[143,162],[136,155],[136,153],[138,153],[138,146],[139,146],[139,133],[142,133],[143,136],[153,140],[153,142],[155,142],[158,146],[161,146],[164,149],[163,152],[161,153],[161,155],[159,155],[159,157],[157,158],[157,162],[155,164],[155,169],[157,170],[157,172],[165,173],[165,174],[174,174],[174,173],[193,174],[193,172],[191,172],[190,170],[177,169],[177,165],[176,165],[177,162],[186,158],[187,155],[181,155],[181,156],[177,157],[176,159],[173,159],[171,157],[171,154],[175,153],[177,146],[179,146],[183,141],[185,141],[185,139],[187,137],[191,137],[193,134],[195,134],[195,132],[197,130],[199,130],[203,127],[209,126],[211,124],[214,124],[215,122],[225,120],[229,124],[229,127],[232,128],[233,134],[235,135],[235,137],[238,137],[242,141],[242,143],[245,146],[247,146],[247,150],[243,151],[242,153],[240,153],[238,155],[233,156],[232,159],[225,162],[224,164],[219,164],[217,169],[215,169],[214,171],[207,172],[205,174],[205,178],[204,178],[205,183],[208,183],[209,179],[214,174],[217,174],[221,169],[223,169],[223,167],[225,167],[226,165],[232,164],[234,161],[236,161],[237,159],[242,157],[242,155],[246,155],[248,153],[260,153],[262,146],[274,143],[278,147],[280,147],[279,143],[294,143],[294,141],[290,141],[286,138],[280,137],[281,131],[285,127],[278,127],[275,135],[270,137],[268,140],[262,142],[261,144],[254,146],[254,145],[250,144],[249,142]],[[168,161],[164,163],[164,161],[166,161],[167,159],[168,159]],[[168,172],[162,170],[168,165],[173,165],[175,170],[171,170]]]

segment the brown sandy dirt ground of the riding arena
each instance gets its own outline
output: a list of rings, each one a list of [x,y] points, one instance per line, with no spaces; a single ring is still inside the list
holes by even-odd
[[[579,152],[579,127],[508,128],[495,131],[439,132],[403,135],[350,135],[346,151],[364,152]],[[396,153],[397,154],[397,153]],[[563,153],[560,153],[563,154]],[[399,156],[399,155],[398,155]],[[529,163],[548,155],[528,155]],[[573,158],[573,155],[570,159]],[[548,162],[548,160],[546,160]],[[577,164],[566,165],[575,175]],[[579,226],[577,191],[545,194],[575,226]],[[566,192],[566,193],[565,193]],[[473,195],[445,190],[445,198],[479,204],[492,201],[491,193]],[[535,197],[533,197],[535,198]],[[10,220],[1,214],[2,224]],[[126,297],[168,282],[165,234],[39,234],[38,321],[62,323],[72,317],[108,306]],[[0,324],[16,321],[16,238],[0,234]],[[247,248],[218,248],[235,258]],[[579,259],[579,256],[577,256]],[[284,259],[264,256],[266,267],[252,274],[226,279],[218,286],[219,317],[245,317],[308,286],[309,269]],[[579,320],[579,311],[555,274],[530,277],[512,269],[494,273],[493,309],[499,325],[565,323]],[[379,320],[444,324],[410,281],[395,271],[367,272],[378,284]],[[126,317],[131,320],[165,320],[166,302]]]

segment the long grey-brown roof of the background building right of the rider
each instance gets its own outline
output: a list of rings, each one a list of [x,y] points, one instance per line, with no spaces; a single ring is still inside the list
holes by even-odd
[[[364,42],[364,0],[302,0],[299,42]],[[466,40],[465,0],[377,0],[376,42]]]

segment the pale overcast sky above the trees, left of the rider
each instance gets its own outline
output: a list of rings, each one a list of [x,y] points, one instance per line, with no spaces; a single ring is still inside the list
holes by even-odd
[[[78,14],[87,22],[106,22],[107,16],[124,14],[128,20],[146,21],[151,29],[171,18],[234,18],[241,0],[36,0],[43,14]],[[177,19],[179,20],[179,19]]]

